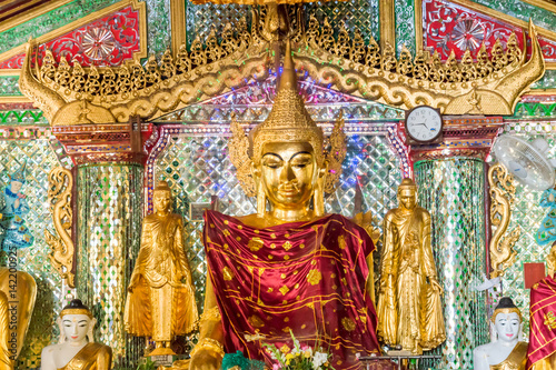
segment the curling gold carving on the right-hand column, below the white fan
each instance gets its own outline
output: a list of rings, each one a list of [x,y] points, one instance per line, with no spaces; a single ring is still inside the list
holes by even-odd
[[[518,226],[505,236],[512,218],[512,204],[516,193],[513,182],[514,178],[504,166],[496,163],[488,170],[490,223],[496,227],[489,244],[490,278],[503,276],[504,270],[512,266],[516,258],[514,244],[519,239],[522,228]]]

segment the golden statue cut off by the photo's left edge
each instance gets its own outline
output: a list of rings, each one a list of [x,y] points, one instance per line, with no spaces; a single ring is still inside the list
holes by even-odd
[[[36,298],[37,283],[29,273],[0,268],[0,369],[13,369],[23,348]]]

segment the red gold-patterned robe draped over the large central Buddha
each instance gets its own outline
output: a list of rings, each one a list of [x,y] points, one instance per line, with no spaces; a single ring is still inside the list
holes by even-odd
[[[215,211],[205,213],[203,243],[225,349],[271,362],[260,341],[329,350],[336,369],[359,367],[356,353],[379,353],[376,312],[366,291],[367,232],[339,214],[256,229]],[[246,339],[247,336],[247,339]]]

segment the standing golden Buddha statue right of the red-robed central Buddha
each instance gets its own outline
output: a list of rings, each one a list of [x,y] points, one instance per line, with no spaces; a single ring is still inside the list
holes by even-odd
[[[417,206],[417,186],[404,179],[399,208],[386,213],[378,296],[378,337],[414,354],[446,340],[430,247],[430,213]],[[428,282],[427,282],[428,279]]]

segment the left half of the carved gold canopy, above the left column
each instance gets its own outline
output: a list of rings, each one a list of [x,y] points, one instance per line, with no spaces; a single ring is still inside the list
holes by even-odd
[[[196,39],[190,52],[181,46],[176,58],[168,50],[160,62],[151,56],[145,67],[136,61],[120,68],[83,69],[73,62],[70,70],[63,66],[60,71],[52,59],[34,76],[30,58],[36,44],[32,40],[28,44],[20,89],[43,110],[51,126],[88,123],[77,119],[82,116],[77,104],[63,119],[56,117],[62,107],[76,101],[87,101],[89,110],[101,112],[102,123],[126,122],[132,116],[158,117],[268,76],[267,43],[258,28],[247,30],[245,20],[235,31],[227,26],[220,42],[211,32],[205,47]],[[60,78],[56,80],[56,76]],[[91,117],[88,120],[97,122]]]

